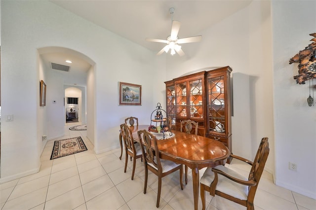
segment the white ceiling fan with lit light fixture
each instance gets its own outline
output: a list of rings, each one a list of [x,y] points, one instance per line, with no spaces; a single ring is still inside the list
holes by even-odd
[[[198,42],[202,39],[202,36],[197,35],[197,36],[191,36],[191,37],[178,39],[178,32],[179,32],[181,23],[179,21],[172,20],[174,8],[170,8],[169,12],[171,14],[171,22],[172,22],[170,36],[168,36],[166,40],[157,39],[157,38],[146,38],[146,40],[154,41],[154,42],[162,42],[162,43],[167,44],[157,53],[157,55],[161,55],[163,52],[168,53],[168,51],[171,50],[170,52],[171,55],[174,55],[177,52],[180,56],[183,56],[185,53],[183,52],[183,50],[181,49],[181,45],[179,44]]]

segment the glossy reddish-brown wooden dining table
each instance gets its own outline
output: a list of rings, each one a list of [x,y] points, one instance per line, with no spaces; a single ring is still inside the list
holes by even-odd
[[[135,141],[138,141],[137,131],[148,130],[149,125],[131,127]],[[218,140],[209,139],[180,131],[173,131],[174,137],[158,140],[159,157],[192,169],[194,207],[198,209],[199,169],[224,165],[230,156],[228,148]]]

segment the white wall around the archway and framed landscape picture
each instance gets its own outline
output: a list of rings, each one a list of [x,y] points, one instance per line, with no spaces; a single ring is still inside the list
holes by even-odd
[[[1,122],[1,181],[39,169],[39,137],[44,130],[39,125],[45,119],[38,117],[41,109],[48,108],[39,107],[37,49],[42,47],[66,47],[95,62],[94,109],[90,110],[95,115],[92,138],[97,153],[118,147],[119,123],[131,112],[140,123],[148,123],[157,81],[152,78],[155,54],[144,47],[49,1],[1,1],[1,42],[1,77],[5,78],[1,81],[1,115],[14,114],[14,121]],[[118,81],[141,84],[143,105],[118,106]],[[54,98],[47,95],[48,99]]]

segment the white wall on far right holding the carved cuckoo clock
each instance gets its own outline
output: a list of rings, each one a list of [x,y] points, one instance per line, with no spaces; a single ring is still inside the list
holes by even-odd
[[[298,64],[289,65],[289,59],[312,43],[316,1],[272,5],[276,184],[316,199],[316,106],[307,105],[309,81],[300,85],[293,79]],[[288,162],[297,164],[297,172],[288,169]]]

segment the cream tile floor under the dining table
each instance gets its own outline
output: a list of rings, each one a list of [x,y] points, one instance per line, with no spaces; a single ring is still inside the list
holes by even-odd
[[[144,169],[137,160],[134,180],[132,162],[124,170],[124,156],[120,149],[96,155],[86,138],[86,131],[68,128],[78,123],[67,123],[65,136],[81,136],[88,150],[49,160],[54,140],[46,143],[41,155],[40,172],[0,184],[1,210],[156,210],[157,176],[149,172],[147,193],[143,193]],[[229,167],[247,174],[248,166],[233,161]],[[200,171],[200,176],[203,170]],[[316,200],[273,184],[272,175],[264,173],[255,197],[256,210],[316,210]],[[245,207],[206,195],[207,210],[245,210]],[[160,206],[162,210],[192,210],[193,189],[191,173],[188,185],[181,190],[179,174],[162,178]],[[201,201],[199,199],[199,209]]]

